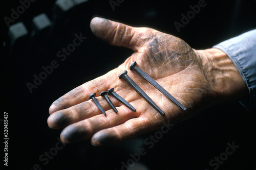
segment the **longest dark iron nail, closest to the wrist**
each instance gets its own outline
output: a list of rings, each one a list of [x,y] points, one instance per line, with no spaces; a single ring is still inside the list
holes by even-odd
[[[139,67],[136,66],[136,61],[133,62],[130,65],[130,70],[135,70],[140,74],[148,83],[152,84],[154,87],[156,87],[159,91],[161,91],[167,98],[169,98],[171,101],[173,101],[176,105],[178,105],[183,110],[186,110],[187,108],[183,106],[178,100],[174,98],[168,91],[166,91],[160,84],[158,84],[152,77],[148,76],[144,71],[142,71]]]

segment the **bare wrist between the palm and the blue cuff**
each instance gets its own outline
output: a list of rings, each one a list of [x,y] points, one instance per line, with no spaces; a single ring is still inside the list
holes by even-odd
[[[248,94],[247,86],[239,70],[226,53],[218,48],[197,52],[202,61],[205,77],[220,101],[230,101]]]

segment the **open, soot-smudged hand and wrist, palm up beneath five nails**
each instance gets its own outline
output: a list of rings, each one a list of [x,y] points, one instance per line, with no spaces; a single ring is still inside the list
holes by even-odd
[[[60,138],[72,143],[91,138],[94,145],[114,144],[157,130],[162,122],[176,124],[217,103],[245,95],[246,85],[228,56],[216,48],[195,50],[185,41],[150,28],[134,28],[103,18],[93,18],[92,32],[111,45],[130,48],[134,53],[118,68],[84,83],[61,96],[49,108],[48,125],[62,129]],[[132,62],[155,79],[187,110],[170,101],[135,71]],[[118,75],[124,71],[164,111],[160,115]],[[115,113],[100,96],[101,91],[114,88],[115,92],[136,108],[133,112],[113,96]],[[92,100],[97,100],[106,111],[104,116]]]

